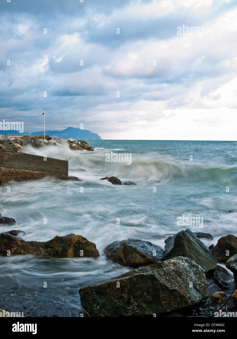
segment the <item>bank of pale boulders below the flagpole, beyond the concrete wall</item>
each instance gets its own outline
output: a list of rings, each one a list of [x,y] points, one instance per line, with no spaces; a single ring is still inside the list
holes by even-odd
[[[47,145],[60,146],[66,144],[73,151],[83,150],[94,151],[94,148],[84,140],[48,138],[48,140],[38,139],[37,137],[29,137],[25,135],[21,139],[10,140],[9,138],[0,139],[0,149],[7,149],[8,151],[22,152],[26,146],[45,147]]]

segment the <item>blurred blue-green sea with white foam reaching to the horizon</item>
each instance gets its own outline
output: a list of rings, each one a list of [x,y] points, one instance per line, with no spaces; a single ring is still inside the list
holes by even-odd
[[[211,233],[213,240],[201,239],[207,246],[221,236],[237,236],[237,142],[87,142],[93,152],[65,145],[26,148],[26,153],[68,160],[69,175],[82,181],[42,178],[0,185],[0,212],[17,222],[0,228],[24,231],[19,236],[26,241],[82,235],[96,244],[100,257],[1,256],[0,308],[33,316],[85,316],[79,288],[131,270],[105,257],[103,249],[113,241],[142,239],[164,248],[168,236],[187,228]],[[106,176],[136,185],[100,180]]]

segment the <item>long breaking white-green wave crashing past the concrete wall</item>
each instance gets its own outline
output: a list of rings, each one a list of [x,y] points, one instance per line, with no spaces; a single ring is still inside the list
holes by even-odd
[[[111,150],[100,148],[98,152],[71,151],[67,146],[28,147],[26,152],[69,161],[71,173],[98,176],[117,176],[120,180],[148,180],[158,182],[202,182],[237,183],[237,167],[218,163],[194,163],[181,161],[169,156],[132,154],[132,162],[106,162],[106,154]],[[114,152],[115,153],[115,152]],[[84,172],[80,172],[84,169]]]

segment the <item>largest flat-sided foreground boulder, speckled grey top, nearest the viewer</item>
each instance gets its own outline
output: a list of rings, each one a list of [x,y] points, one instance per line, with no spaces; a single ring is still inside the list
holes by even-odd
[[[92,317],[152,316],[212,296],[204,270],[183,257],[95,282],[80,288],[79,294],[81,306]]]

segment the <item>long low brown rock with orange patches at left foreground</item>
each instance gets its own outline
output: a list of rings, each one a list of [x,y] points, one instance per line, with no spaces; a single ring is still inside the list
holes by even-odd
[[[10,235],[9,232],[0,234],[0,253],[7,255],[32,254],[38,257],[73,258],[99,256],[96,245],[81,235],[68,234],[63,237],[56,236],[49,241],[25,241],[20,237]]]

